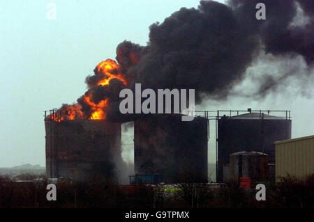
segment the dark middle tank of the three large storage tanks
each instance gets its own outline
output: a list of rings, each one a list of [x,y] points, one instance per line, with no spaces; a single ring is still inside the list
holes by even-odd
[[[163,182],[207,182],[208,120],[146,115],[134,122],[135,173],[162,175]]]

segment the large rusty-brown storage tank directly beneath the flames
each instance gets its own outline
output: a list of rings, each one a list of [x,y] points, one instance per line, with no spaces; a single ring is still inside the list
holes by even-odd
[[[106,120],[45,120],[47,177],[116,178],[121,124]]]

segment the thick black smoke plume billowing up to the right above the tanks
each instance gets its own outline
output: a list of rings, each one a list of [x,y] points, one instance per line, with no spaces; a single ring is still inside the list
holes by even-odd
[[[266,20],[255,17],[259,2],[266,5]],[[303,26],[293,26],[298,8],[308,19]],[[244,79],[261,50],[274,56],[302,56],[306,74],[313,74],[313,8],[314,1],[308,0],[231,0],[228,5],[200,1],[197,9],[181,8],[163,23],[152,24],[146,47],[122,42],[117,61],[130,88],[135,83],[153,89],[194,88],[196,102],[203,95],[223,99]],[[266,95],[280,82],[270,74],[260,81],[258,93]]]

